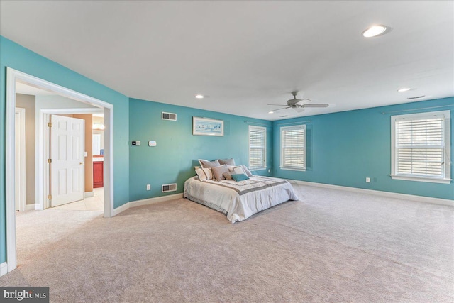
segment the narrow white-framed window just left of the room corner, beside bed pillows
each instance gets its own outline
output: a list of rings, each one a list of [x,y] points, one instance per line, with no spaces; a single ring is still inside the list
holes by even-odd
[[[248,167],[250,170],[260,170],[267,167],[266,146],[267,128],[250,125],[248,128]]]

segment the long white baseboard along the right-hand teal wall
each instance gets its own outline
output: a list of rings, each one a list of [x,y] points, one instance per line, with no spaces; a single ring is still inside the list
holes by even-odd
[[[423,196],[416,196],[414,194],[399,194],[397,192],[382,192],[380,190],[374,190],[374,189],[345,187],[345,186],[340,186],[340,185],[331,185],[331,184],[323,184],[323,183],[307,182],[307,181],[299,181],[299,180],[289,180],[288,179],[288,181],[290,183],[308,185],[308,186],[314,186],[314,187],[339,189],[339,190],[345,190],[348,192],[360,192],[362,194],[374,194],[376,196],[389,197],[389,198],[395,198],[395,199],[405,199],[405,200],[411,200],[411,201],[416,201],[416,202],[425,202],[425,203],[431,203],[431,204],[454,206],[454,200],[449,200],[449,199],[423,197]]]

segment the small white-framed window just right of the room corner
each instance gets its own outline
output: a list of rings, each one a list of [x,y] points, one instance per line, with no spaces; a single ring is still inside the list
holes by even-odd
[[[281,168],[306,170],[306,125],[281,128]]]

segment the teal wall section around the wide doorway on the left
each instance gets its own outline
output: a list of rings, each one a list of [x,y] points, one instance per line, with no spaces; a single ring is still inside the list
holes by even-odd
[[[6,261],[6,67],[114,104],[114,206],[128,202],[128,97],[0,37],[0,263]]]

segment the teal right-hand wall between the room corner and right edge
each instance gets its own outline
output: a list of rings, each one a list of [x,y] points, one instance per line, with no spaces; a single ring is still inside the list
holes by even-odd
[[[446,105],[448,107],[411,110]],[[454,199],[453,182],[450,184],[438,184],[392,180],[389,177],[391,173],[390,117],[397,114],[413,114],[421,111],[437,110],[451,111],[450,159],[453,159],[454,97],[451,97],[274,121],[273,162],[275,167],[273,167],[273,175],[275,177],[345,187]],[[402,112],[389,113],[390,111]],[[382,112],[387,114],[382,114]],[[311,121],[305,123],[307,131],[307,170],[306,172],[281,170],[279,168],[280,127],[288,126],[286,123],[298,121]],[[366,177],[371,178],[370,183],[365,182]],[[451,164],[452,177],[454,177],[454,172]]]

